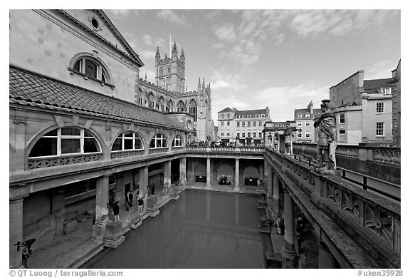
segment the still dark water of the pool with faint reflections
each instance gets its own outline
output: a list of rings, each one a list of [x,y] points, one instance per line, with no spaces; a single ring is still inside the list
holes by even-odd
[[[261,268],[257,197],[188,190],[84,268]]]

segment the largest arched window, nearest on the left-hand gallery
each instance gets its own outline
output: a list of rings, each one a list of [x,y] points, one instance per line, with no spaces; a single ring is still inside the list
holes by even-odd
[[[83,128],[56,128],[43,135],[28,155],[29,158],[100,153],[93,134]]]

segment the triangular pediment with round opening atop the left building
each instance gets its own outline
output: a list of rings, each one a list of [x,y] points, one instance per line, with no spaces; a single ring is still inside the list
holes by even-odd
[[[102,43],[114,48],[122,55],[131,58],[139,66],[144,66],[140,57],[127,43],[120,31],[108,19],[104,11],[100,9],[89,10],[58,10],[63,16],[73,21],[79,28],[88,31],[89,34],[99,38]]]

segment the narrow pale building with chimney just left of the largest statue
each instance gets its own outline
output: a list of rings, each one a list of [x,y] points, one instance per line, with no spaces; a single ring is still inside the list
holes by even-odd
[[[313,109],[312,101],[308,104],[308,108],[295,109],[296,142],[317,142],[313,118],[320,112],[320,109]]]

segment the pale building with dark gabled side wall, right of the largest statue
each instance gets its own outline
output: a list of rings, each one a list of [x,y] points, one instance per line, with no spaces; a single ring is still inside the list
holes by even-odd
[[[392,144],[391,78],[364,80],[357,71],[330,88],[337,143]]]

